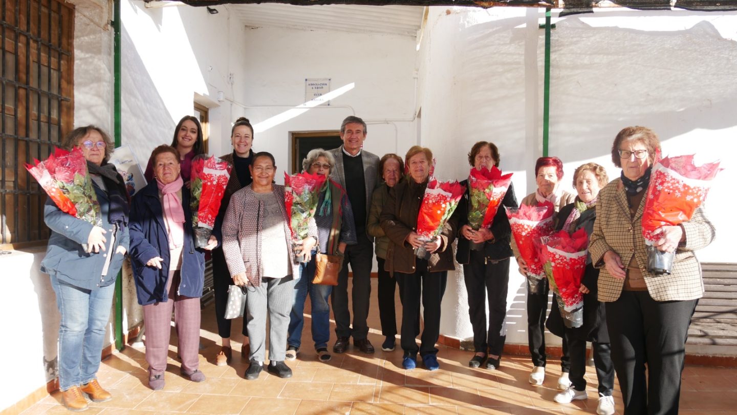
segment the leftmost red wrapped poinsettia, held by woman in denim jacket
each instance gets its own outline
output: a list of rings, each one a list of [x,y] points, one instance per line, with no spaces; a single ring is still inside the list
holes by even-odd
[[[87,160],[80,148],[55,148],[48,159],[33,162],[26,164],[27,170],[62,212],[97,226],[102,224]]]

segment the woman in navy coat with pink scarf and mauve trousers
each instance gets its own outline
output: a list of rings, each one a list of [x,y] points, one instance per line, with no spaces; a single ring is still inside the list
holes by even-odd
[[[179,338],[181,373],[194,382],[199,370],[200,297],[205,254],[195,249],[189,191],[182,186],[179,157],[170,145],[151,154],[154,180],[133,196],[130,208],[130,264],[146,325],[148,385],[164,388],[172,309]],[[206,250],[217,247],[210,236]]]

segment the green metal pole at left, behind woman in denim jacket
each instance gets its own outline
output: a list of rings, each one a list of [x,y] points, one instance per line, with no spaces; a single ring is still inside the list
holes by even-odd
[[[115,147],[120,147],[120,1],[113,1],[113,134]],[[123,275],[118,272],[115,281],[115,348],[119,351],[125,348],[123,343]]]

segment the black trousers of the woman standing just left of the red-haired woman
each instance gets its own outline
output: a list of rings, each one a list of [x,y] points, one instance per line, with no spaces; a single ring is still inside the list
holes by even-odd
[[[468,294],[468,315],[473,327],[475,351],[500,356],[506,341],[506,295],[509,287],[509,258],[486,261],[481,250],[471,250],[463,266]],[[486,327],[486,298],[489,298],[489,327]]]

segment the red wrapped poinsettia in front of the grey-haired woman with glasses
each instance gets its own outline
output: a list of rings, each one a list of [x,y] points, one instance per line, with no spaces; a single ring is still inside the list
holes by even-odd
[[[284,173],[284,207],[290,215],[289,228],[296,241],[307,238],[310,218],[315,216],[320,189],[326,179],[323,174]]]

